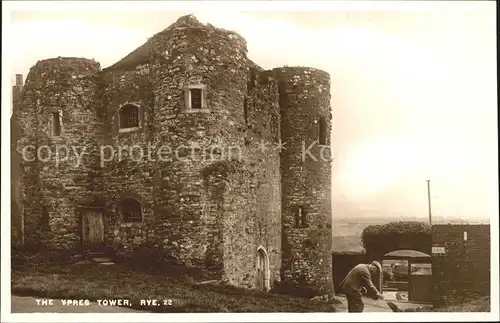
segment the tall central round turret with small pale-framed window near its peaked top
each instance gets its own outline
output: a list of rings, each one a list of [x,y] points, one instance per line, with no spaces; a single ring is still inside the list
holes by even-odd
[[[208,258],[218,259],[213,266],[222,268],[222,241],[212,238],[222,234],[211,222],[216,216],[202,216],[209,212],[203,196],[210,190],[203,171],[231,156],[239,158],[244,147],[246,41],[185,16],[154,35],[149,48],[154,147],[173,152],[171,159],[155,165],[160,170],[158,185],[164,190],[155,192],[160,210],[156,232],[169,236],[176,232],[179,237],[162,240],[160,247],[201,265]],[[174,222],[168,214],[182,221]],[[195,226],[207,229],[193,234]]]

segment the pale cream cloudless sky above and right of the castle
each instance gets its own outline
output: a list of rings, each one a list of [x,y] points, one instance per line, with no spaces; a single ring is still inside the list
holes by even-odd
[[[57,56],[94,58],[107,67],[194,14],[245,37],[249,58],[263,68],[330,73],[333,217],[427,218],[426,180],[436,219],[498,216],[494,2],[446,1],[420,10],[393,2],[378,11],[184,7],[58,3],[12,11],[12,80]]]

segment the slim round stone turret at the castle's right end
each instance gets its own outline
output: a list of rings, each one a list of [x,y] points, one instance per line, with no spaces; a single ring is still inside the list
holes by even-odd
[[[331,262],[330,76],[274,69],[279,84],[282,280],[307,293],[333,293]]]

